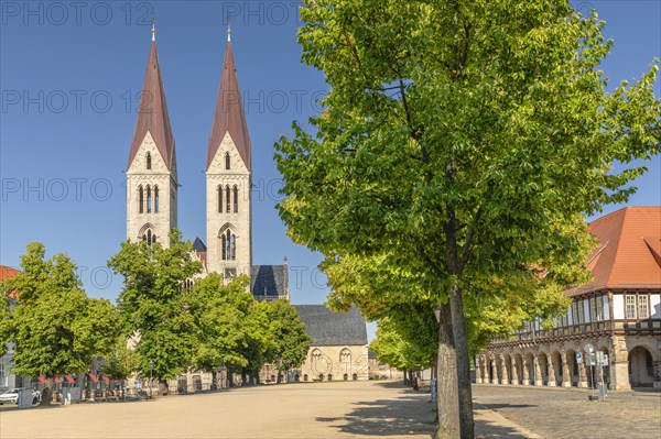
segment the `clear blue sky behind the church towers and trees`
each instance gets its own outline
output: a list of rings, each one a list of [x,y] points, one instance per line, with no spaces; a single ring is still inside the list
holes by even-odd
[[[615,47],[611,85],[635,79],[661,55],[658,1],[575,2],[606,20]],[[226,46],[225,17],[252,140],[253,263],[289,257],[294,304],[323,303],[321,256],[295,245],[275,211],[273,142],[318,111],[323,75],[300,62],[294,1],[1,2],[0,264],[18,266],[25,244],[66,252],[88,294],[115,298],[106,261],[126,239],[124,174],[151,40],[151,18],[176,140],[180,228],[205,231],[207,139]],[[659,91],[657,85],[657,91]],[[661,157],[629,205],[661,205]],[[606,212],[618,207],[608,207]]]

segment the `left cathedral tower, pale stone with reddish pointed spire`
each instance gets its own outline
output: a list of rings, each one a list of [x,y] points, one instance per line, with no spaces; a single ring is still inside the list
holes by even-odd
[[[127,239],[170,244],[178,183],[174,138],[163,90],[155,31],[127,168]]]

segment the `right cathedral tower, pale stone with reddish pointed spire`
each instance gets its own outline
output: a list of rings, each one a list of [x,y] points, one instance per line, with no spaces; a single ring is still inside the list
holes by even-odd
[[[250,136],[227,37],[206,164],[207,270],[226,278],[252,265]]]

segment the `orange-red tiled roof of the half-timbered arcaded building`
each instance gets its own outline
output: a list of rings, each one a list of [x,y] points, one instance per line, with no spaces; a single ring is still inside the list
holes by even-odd
[[[626,207],[593,221],[593,279],[570,296],[606,288],[661,288],[661,207]]]

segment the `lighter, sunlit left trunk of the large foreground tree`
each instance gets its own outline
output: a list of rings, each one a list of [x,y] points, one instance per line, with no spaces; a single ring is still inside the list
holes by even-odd
[[[457,385],[457,359],[454,347],[454,331],[449,306],[441,306],[438,323],[438,358],[436,360],[436,381],[438,431],[435,439],[458,439],[459,397]]]

